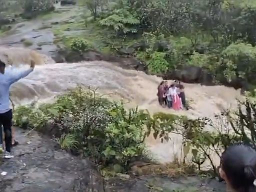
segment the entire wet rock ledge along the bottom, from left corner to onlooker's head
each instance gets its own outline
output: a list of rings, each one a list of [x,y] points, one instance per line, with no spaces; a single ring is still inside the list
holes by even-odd
[[[84,191],[224,191],[223,183],[198,176],[171,179],[157,176],[119,176],[103,181],[87,160],[60,150],[57,143],[35,131],[16,129],[19,145],[14,158],[0,165],[1,192],[84,192]],[[103,189],[104,188],[104,189]]]

